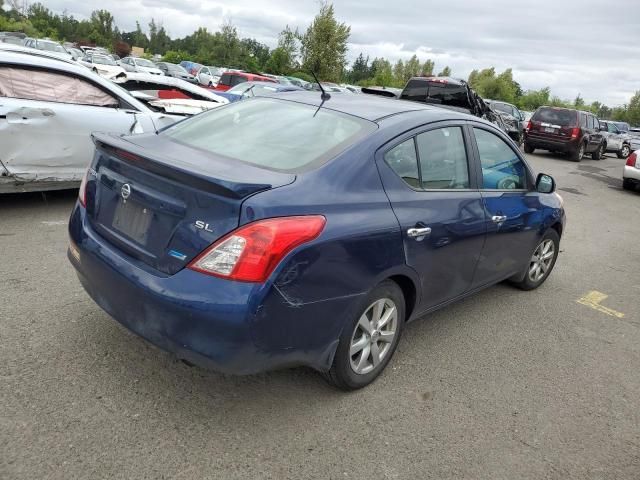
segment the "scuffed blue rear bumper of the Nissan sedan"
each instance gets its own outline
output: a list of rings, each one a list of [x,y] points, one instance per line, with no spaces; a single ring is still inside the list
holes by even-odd
[[[338,312],[349,308],[345,299],[291,305],[270,285],[189,269],[158,276],[103,240],[84,216],[76,206],[69,260],[89,296],[132,332],[178,358],[224,373],[330,367],[341,322],[320,320],[339,319]],[[315,329],[308,328],[310,321]]]

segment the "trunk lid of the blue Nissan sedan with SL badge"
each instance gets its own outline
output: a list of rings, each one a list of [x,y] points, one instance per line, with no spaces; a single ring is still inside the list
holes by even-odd
[[[165,274],[237,228],[247,197],[295,180],[163,136],[94,134],[94,142],[95,181],[86,198],[91,226]]]

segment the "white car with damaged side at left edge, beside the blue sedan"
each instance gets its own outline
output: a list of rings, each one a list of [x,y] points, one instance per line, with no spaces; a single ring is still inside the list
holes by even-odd
[[[155,132],[181,118],[75,62],[0,49],[0,193],[74,188],[92,132]]]

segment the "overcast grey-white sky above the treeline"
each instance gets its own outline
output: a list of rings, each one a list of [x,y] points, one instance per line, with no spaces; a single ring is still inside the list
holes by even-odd
[[[172,38],[199,26],[215,31],[229,18],[241,37],[270,47],[286,24],[306,29],[319,8],[315,0],[41,1],[76,18],[109,8],[125,31],[136,20],[145,28],[154,17]],[[511,67],[525,90],[549,86],[561,98],[580,93],[610,106],[640,90],[640,0],[342,0],[334,6],[351,25],[350,61],[361,51],[391,61],[415,53],[465,79],[474,68]]]

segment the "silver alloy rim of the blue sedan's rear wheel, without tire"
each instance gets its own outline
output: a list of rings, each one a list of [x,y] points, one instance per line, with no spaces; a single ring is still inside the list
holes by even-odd
[[[398,328],[398,309],[390,298],[373,302],[351,335],[351,369],[364,375],[374,370],[391,350]]]

